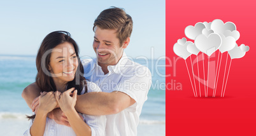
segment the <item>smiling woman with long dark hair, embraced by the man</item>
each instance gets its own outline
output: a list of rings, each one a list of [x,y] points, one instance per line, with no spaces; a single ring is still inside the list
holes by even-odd
[[[39,96],[36,115],[31,116],[31,127],[24,135],[104,135],[105,116],[82,114],[83,120],[75,110],[77,95],[101,91],[96,84],[85,81],[78,52],[69,32],[51,32],[43,39],[36,57],[36,85],[44,92]],[[55,107],[60,107],[71,127],[47,118]]]

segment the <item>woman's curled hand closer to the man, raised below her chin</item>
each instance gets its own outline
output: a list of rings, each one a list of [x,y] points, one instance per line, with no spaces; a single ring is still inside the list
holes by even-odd
[[[77,90],[71,93],[74,88],[70,88],[64,93],[56,92],[55,98],[59,103],[60,109],[66,113],[71,110],[75,110]]]

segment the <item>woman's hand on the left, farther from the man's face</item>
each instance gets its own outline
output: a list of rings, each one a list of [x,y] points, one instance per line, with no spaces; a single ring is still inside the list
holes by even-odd
[[[47,114],[52,111],[57,104],[58,103],[53,92],[43,92],[39,96],[38,111],[43,111]]]

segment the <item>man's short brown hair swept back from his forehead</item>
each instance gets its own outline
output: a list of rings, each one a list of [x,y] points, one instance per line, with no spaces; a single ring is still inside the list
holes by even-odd
[[[96,18],[93,27],[94,32],[96,26],[100,29],[117,30],[117,38],[120,41],[120,46],[122,46],[127,37],[131,37],[132,17],[121,8],[111,7],[103,10]]]

